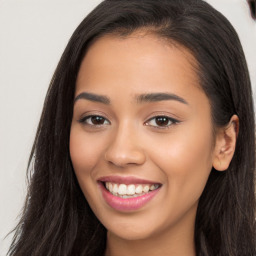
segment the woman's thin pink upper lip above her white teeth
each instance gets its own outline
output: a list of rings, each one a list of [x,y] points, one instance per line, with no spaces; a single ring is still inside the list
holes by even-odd
[[[126,184],[126,185],[128,184],[160,184],[159,182],[141,179],[134,176],[118,176],[118,175],[103,176],[103,177],[100,177],[98,181]]]

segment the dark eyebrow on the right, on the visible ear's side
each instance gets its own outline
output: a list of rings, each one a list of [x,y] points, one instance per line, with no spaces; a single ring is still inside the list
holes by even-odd
[[[162,93],[161,92],[161,93],[140,94],[136,98],[137,98],[138,103],[175,100],[175,101],[178,101],[178,102],[188,105],[188,102],[185,99],[183,99],[180,96],[173,94],[173,93]]]

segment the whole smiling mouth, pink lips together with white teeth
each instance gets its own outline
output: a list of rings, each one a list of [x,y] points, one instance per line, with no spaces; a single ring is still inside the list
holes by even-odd
[[[132,177],[112,176],[98,181],[104,201],[121,212],[142,208],[155,197],[162,186],[160,183]]]

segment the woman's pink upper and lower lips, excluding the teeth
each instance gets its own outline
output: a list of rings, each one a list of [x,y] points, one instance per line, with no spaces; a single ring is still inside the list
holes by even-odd
[[[138,210],[148,203],[159,192],[159,189],[150,191],[144,195],[132,198],[121,198],[112,195],[104,186],[103,182],[112,182],[118,184],[159,184],[152,181],[142,180],[134,177],[108,176],[99,179],[99,188],[106,203],[117,211]]]

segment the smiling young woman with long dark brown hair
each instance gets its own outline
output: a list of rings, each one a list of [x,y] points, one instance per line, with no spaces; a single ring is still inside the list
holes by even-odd
[[[53,76],[9,255],[252,256],[255,123],[230,23],[106,0]]]

